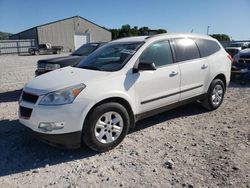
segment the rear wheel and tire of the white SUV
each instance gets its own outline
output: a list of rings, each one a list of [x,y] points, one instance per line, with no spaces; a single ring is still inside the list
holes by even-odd
[[[222,104],[225,94],[225,84],[220,79],[215,79],[209,86],[207,97],[201,101],[204,108],[215,110]]]

